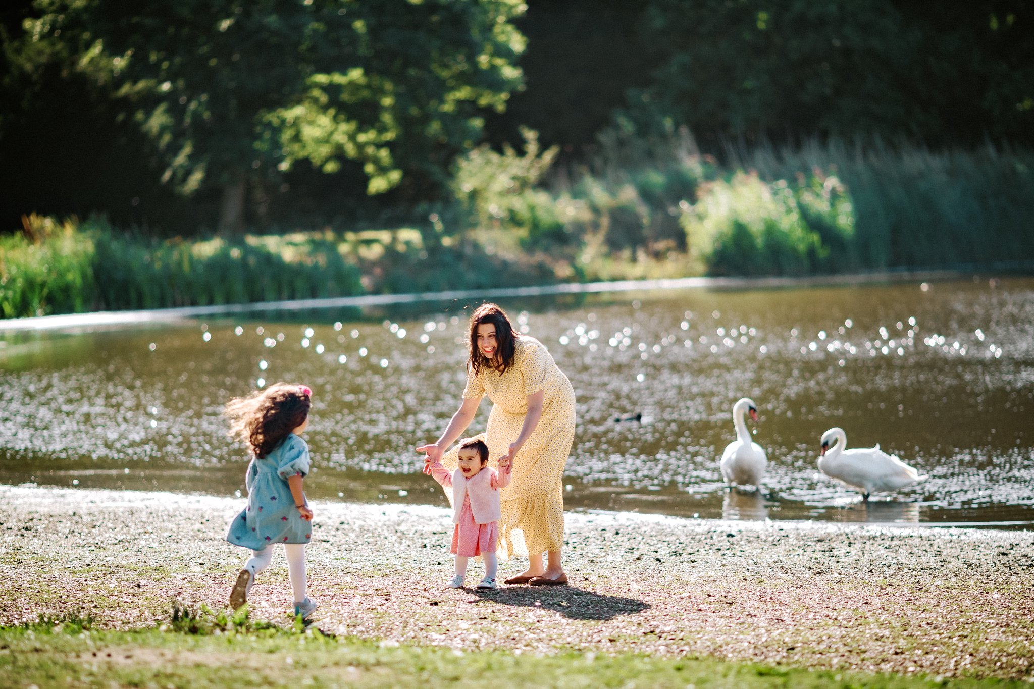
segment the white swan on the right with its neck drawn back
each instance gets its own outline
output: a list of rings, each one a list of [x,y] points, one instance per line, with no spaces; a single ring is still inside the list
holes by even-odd
[[[845,449],[847,434],[843,429],[829,429],[822,434],[821,442],[819,471],[858,489],[862,500],[869,500],[874,491],[896,491],[926,478],[898,456],[884,452],[879,443],[876,447]]]

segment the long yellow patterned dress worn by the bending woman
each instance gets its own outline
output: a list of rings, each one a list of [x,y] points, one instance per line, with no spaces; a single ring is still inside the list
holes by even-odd
[[[482,368],[467,377],[463,390],[464,398],[488,395],[492,401],[488,427],[479,437],[488,445],[489,466],[496,468],[520,435],[527,396],[539,390],[545,390],[542,418],[514,459],[513,480],[499,495],[498,554],[504,560],[559,551],[564,544],[564,467],[575,439],[575,392],[546,347],[526,335],[517,338],[514,363],[506,373]],[[457,455],[454,447],[442,463],[454,469]]]

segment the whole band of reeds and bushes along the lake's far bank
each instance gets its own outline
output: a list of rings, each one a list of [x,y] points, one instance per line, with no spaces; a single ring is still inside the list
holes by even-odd
[[[412,227],[156,240],[29,216],[0,236],[0,316],[556,281],[1034,267],[1034,153],[604,137],[556,168],[472,151]]]

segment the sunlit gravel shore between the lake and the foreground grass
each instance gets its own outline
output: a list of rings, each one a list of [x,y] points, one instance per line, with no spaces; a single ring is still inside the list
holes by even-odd
[[[0,624],[224,605],[243,500],[0,486]],[[446,590],[451,512],[315,503],[316,624],[386,644],[708,656],[1034,681],[1034,533],[567,514],[570,587]],[[500,578],[522,568],[505,563]],[[468,581],[481,576],[473,562]],[[282,555],[252,617],[288,623]]]

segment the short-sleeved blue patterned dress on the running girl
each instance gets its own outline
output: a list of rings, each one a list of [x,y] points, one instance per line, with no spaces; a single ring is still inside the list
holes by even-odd
[[[244,484],[248,506],[234,518],[226,540],[234,545],[261,551],[270,543],[307,543],[312,523],[295,507],[288,476],[309,473],[309,446],[295,434],[264,457],[252,459]]]

